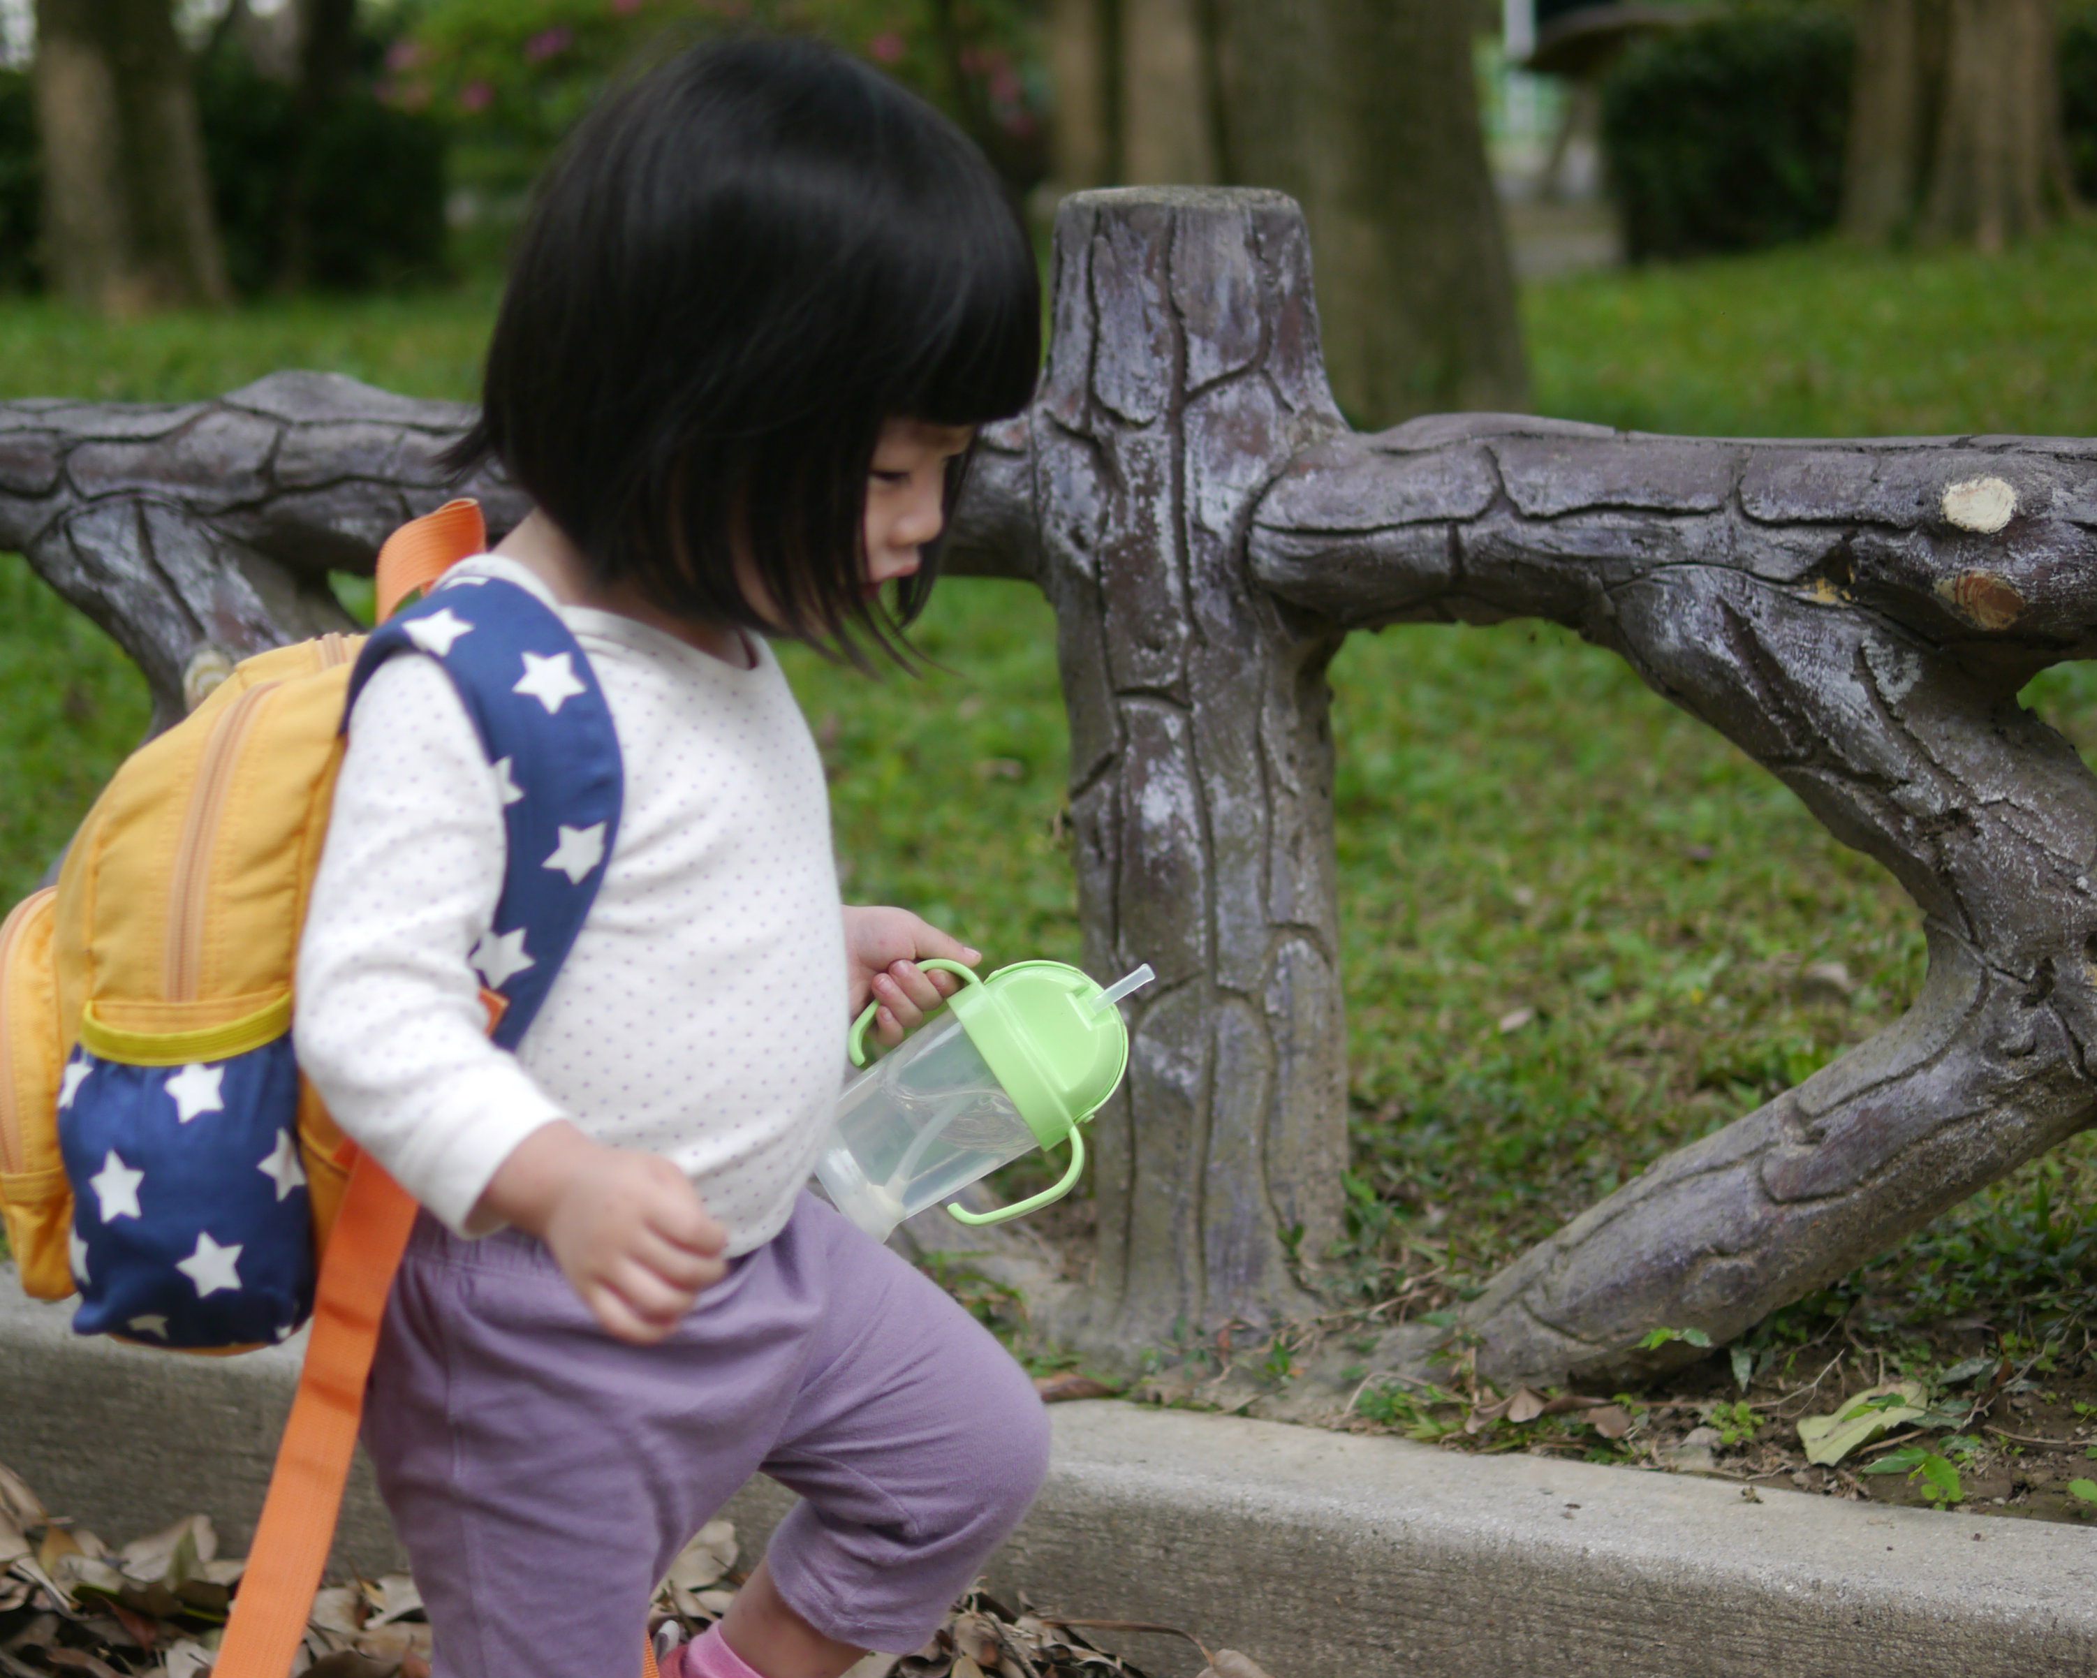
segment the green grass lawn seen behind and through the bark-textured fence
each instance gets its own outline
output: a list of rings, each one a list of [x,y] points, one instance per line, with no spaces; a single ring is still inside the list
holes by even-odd
[[[279,365],[474,386],[487,287],[105,327],[0,306],[0,396],[210,394]],[[1533,287],[1548,413],[1701,434],[2097,434],[2097,233],[1998,260],[1806,248]],[[145,719],[92,629],[0,564],[0,887],[21,891]],[[1076,956],[1053,619],[950,581],[923,680],[786,648],[847,894],[994,963]],[[1409,625],[1334,667],[1359,1242],[1478,1273],[1885,1026],[1917,915],[1774,778],[1556,627]],[[2097,751],[2097,673],[2028,694]],[[1839,961],[1847,1003],[1799,969]],[[1527,1015],[1527,1017],[1525,1017]],[[1860,1271],[1835,1307],[2087,1296],[2093,1152],[2061,1149]],[[1361,1202],[1357,1202],[1361,1204]],[[2076,1290],[2082,1290],[2078,1294]]]

